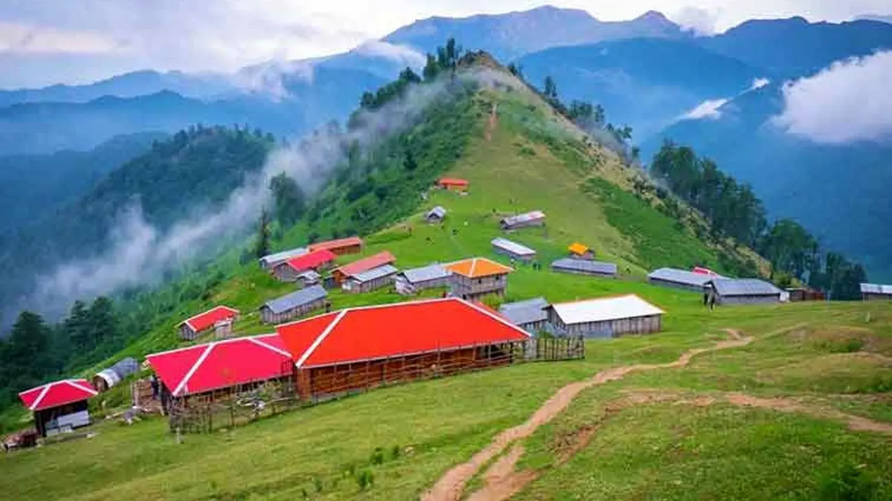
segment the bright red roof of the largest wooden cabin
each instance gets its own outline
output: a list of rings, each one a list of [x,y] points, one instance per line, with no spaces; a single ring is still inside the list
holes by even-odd
[[[276,328],[299,367],[458,349],[529,337],[489,309],[458,298],[347,308]]]

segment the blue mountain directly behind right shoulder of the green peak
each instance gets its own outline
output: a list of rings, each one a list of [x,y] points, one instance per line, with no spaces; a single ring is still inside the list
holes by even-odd
[[[599,103],[635,136],[657,132],[706,100],[740,94],[769,75],[689,40],[633,38],[554,47],[518,61],[541,86],[554,78],[566,101]]]

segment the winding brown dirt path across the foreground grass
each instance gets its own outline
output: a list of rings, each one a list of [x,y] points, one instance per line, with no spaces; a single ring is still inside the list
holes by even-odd
[[[669,362],[667,364],[641,364],[615,367],[612,369],[601,371],[587,381],[572,382],[570,384],[567,384],[565,387],[558,390],[557,393],[552,395],[551,398],[546,400],[545,403],[542,404],[542,406],[539,407],[539,409],[537,409],[536,412],[534,412],[533,415],[526,420],[526,422],[519,424],[513,428],[508,428],[508,430],[506,431],[502,431],[501,433],[496,435],[495,438],[492,439],[490,445],[481,449],[474,456],[471,456],[471,458],[467,462],[458,464],[450,471],[443,474],[440,480],[437,480],[437,482],[434,484],[434,487],[425,492],[424,495],[422,495],[421,499],[423,501],[458,501],[465,490],[467,481],[480,471],[480,469],[483,467],[483,464],[490,462],[493,458],[502,454],[502,452],[504,452],[509,445],[516,442],[517,440],[529,437],[542,424],[549,423],[549,421],[554,419],[555,416],[564,412],[566,407],[570,405],[570,402],[572,402],[573,399],[576,398],[576,396],[579,395],[580,392],[582,392],[582,390],[586,390],[593,386],[599,386],[607,382],[623,379],[627,374],[635,372],[683,367],[690,363],[691,358],[696,357],[699,354],[721,349],[738,348],[741,346],[746,346],[753,341],[753,338],[741,336],[737,331],[726,330],[726,332],[728,333],[729,337],[731,337],[730,340],[719,341],[715,343],[712,348],[689,349],[688,351],[684,352],[681,357],[678,358],[678,360],[675,360],[674,362]],[[522,451],[523,449],[520,450]],[[514,463],[516,463],[516,460]],[[513,465],[514,463],[511,464]],[[493,468],[496,465],[499,465],[499,462],[493,464]],[[500,467],[505,467],[505,464],[501,464]],[[526,482],[524,482],[524,484],[525,483]],[[523,485],[521,485],[521,487],[523,487]],[[477,493],[475,493],[474,496],[476,496],[476,494]],[[483,496],[483,494],[481,494],[481,496]],[[492,499],[505,499],[506,497],[493,496],[473,498],[475,499],[475,501],[490,501]]]

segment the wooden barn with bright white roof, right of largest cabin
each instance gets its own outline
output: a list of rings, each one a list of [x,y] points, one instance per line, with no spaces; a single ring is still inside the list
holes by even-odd
[[[549,323],[560,335],[613,338],[623,334],[657,333],[662,328],[665,312],[630,294],[553,304],[548,313]]]

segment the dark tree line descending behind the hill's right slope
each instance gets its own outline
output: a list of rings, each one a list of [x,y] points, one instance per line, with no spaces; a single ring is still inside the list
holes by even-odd
[[[861,298],[860,283],[867,276],[860,264],[822,250],[818,239],[792,219],[769,223],[763,202],[749,185],[723,173],[690,146],[665,141],[654,155],[650,173],[703,214],[714,239],[734,238],[767,259],[775,283],[787,286],[795,278],[830,292],[835,300]]]

